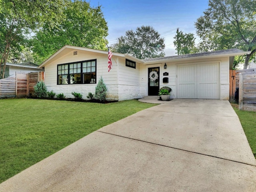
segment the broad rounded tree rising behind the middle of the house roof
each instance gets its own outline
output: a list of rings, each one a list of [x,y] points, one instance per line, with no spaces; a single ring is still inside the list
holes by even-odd
[[[130,54],[136,58],[155,58],[164,56],[164,38],[151,26],[141,26],[136,31],[128,30],[125,36],[113,44],[114,52]]]

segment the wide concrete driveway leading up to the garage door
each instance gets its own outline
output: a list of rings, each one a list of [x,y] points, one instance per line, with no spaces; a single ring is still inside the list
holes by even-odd
[[[256,160],[228,101],[175,99],[105,126],[1,192],[255,192]]]

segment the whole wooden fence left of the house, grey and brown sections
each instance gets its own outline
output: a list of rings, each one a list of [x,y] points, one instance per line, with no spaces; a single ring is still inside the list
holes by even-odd
[[[44,72],[16,73],[16,78],[0,79],[0,98],[34,96],[38,81],[44,81]]]

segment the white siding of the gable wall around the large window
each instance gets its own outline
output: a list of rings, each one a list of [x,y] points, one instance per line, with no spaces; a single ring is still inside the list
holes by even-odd
[[[107,97],[110,100],[117,100],[118,88],[117,84],[117,64],[113,62],[113,68],[108,72],[108,55],[96,54],[93,52],[78,50],[77,55],[73,52],[77,50],[70,50],[66,54],[60,55],[56,60],[53,60],[45,66],[45,84],[48,90],[53,90],[56,94],[63,93],[67,98],[73,98],[71,92],[78,92],[83,95],[83,99],[87,99],[88,92],[95,92],[95,87],[100,79],[103,77],[104,83],[108,88]],[[96,84],[72,84],[72,85],[57,85],[57,65],[71,62],[80,62],[84,60],[96,59]]]

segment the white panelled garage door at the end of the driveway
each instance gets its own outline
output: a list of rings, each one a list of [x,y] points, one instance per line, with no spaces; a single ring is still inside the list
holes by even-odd
[[[220,64],[178,65],[177,98],[219,99]]]

